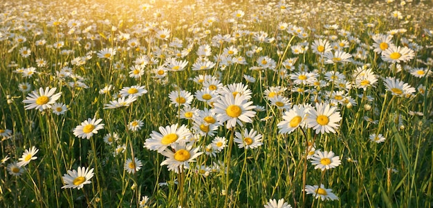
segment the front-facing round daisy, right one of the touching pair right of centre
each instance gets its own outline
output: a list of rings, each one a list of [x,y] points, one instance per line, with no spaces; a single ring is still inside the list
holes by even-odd
[[[337,107],[331,107],[328,103],[316,103],[315,108],[308,112],[308,127],[315,129],[315,134],[335,133],[335,129],[340,126],[338,122],[342,119],[336,110]]]

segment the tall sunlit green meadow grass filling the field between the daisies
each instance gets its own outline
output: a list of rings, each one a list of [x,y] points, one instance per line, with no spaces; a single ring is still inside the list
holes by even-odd
[[[425,34],[423,29],[433,29],[432,9],[417,3],[407,3],[402,7],[399,2],[384,1],[367,8],[363,4],[317,1],[315,6],[289,3],[291,8],[284,13],[276,6],[277,1],[230,2],[158,1],[150,3],[153,7],[146,11],[135,1],[125,4],[102,1],[3,3],[0,15],[0,133],[10,129],[12,134],[3,136],[1,140],[1,158],[8,156],[9,159],[2,160],[0,165],[0,207],[139,207],[142,196],[149,196],[146,203],[149,207],[263,207],[274,198],[284,198],[292,207],[431,207],[432,79],[431,76],[418,78],[407,69],[424,67],[431,71],[429,57],[433,37]],[[232,14],[236,10],[242,10],[245,15],[228,21],[234,18]],[[395,10],[403,14],[403,19],[391,17]],[[161,12],[161,17],[154,14],[157,11]],[[64,17],[62,23],[49,26],[52,18],[59,20],[61,17]],[[203,20],[207,17],[216,17],[216,21],[206,26]],[[81,33],[68,34],[71,31],[67,23],[73,19],[80,21]],[[308,37],[301,39],[286,30],[279,30],[282,22],[304,28]],[[151,23],[158,26],[147,28],[146,24]],[[369,28],[366,23],[375,25]],[[315,101],[329,103],[328,92],[339,90],[338,85],[326,81],[326,72],[340,72],[346,81],[355,81],[353,75],[358,65],[324,64],[311,49],[312,43],[320,39],[316,36],[326,39],[336,35],[338,39],[335,41],[347,39],[338,35],[338,30],[324,27],[333,24],[359,39],[360,43],[349,43],[349,48],[343,49],[350,54],[355,54],[358,47],[373,45],[371,34],[386,34],[394,29],[407,31],[395,34],[392,43],[403,47],[402,38],[405,38],[409,43],[420,45],[421,49],[415,53],[414,59],[400,63],[403,68],[400,72],[396,72],[395,65],[383,61],[374,48],[366,50],[366,59],[356,59],[369,64],[378,81],[367,90],[358,89],[355,84],[342,90],[353,98],[354,104],[335,105],[342,117],[335,134],[315,134],[307,127],[298,127],[291,134],[279,134],[277,124],[283,121],[284,110],[277,109],[266,98],[264,92],[269,87],[286,87],[282,96],[288,98],[292,106],[315,106]],[[84,32],[92,25],[95,28]],[[23,26],[28,30],[21,30]],[[155,37],[158,28],[171,30],[167,41]],[[214,44],[212,37],[235,34],[237,30],[246,32],[230,42]],[[261,31],[275,41],[255,41],[252,33]],[[136,38],[141,50],[130,47],[127,41],[118,41],[120,32]],[[17,43],[11,34],[25,37],[26,41]],[[152,41],[149,37],[153,37]],[[182,48],[169,46],[174,38],[183,41]],[[36,45],[36,41],[42,39],[46,44]],[[64,47],[53,48],[57,41],[64,41]],[[304,42],[309,43],[309,49],[294,54],[291,46]],[[91,47],[86,48],[86,43],[91,43]],[[193,44],[190,53],[177,58],[188,61],[185,70],[167,71],[165,78],[155,78],[154,70],[167,63],[166,58],[176,55],[172,51],[182,51],[189,43]],[[246,64],[193,71],[192,65],[199,59],[196,52],[204,44],[211,46],[212,56],[208,58],[216,64],[221,61],[214,56],[222,54],[224,48],[230,46],[239,50],[237,56],[242,56]],[[261,50],[248,56],[252,46]],[[24,47],[31,50],[27,58],[19,53]],[[113,59],[98,58],[97,52],[103,48],[117,50]],[[161,48],[165,50],[163,56],[158,54]],[[61,54],[62,50],[71,50],[71,54]],[[93,53],[84,64],[73,64],[75,58],[84,57],[89,52]],[[156,63],[146,65],[140,79],[133,79],[129,77],[129,67],[135,65],[134,61],[142,55],[154,58]],[[282,79],[278,70],[250,70],[257,67],[260,56],[273,59],[278,69],[283,68],[286,59],[297,58],[294,70],[287,70],[287,74],[300,72],[299,67],[304,65],[308,72],[315,72],[317,79],[326,81],[327,85],[317,89],[297,85],[289,76]],[[39,58],[46,60],[46,66],[37,66],[36,59]],[[124,69],[116,67],[119,63],[124,65]],[[71,67],[73,76],[61,78],[57,73],[66,66]],[[28,67],[37,70],[31,77],[14,72]],[[248,85],[252,92],[252,105],[263,106],[264,111],[257,112],[252,123],[243,123],[243,127],[237,125],[228,129],[225,125],[219,126],[215,136],[225,136],[227,147],[214,157],[202,154],[196,162],[190,163],[189,169],[176,174],[168,171],[167,165],[160,165],[165,156],[143,147],[143,144],[153,131],[158,132],[158,127],[178,123],[192,129],[193,122],[180,118],[181,107],[171,104],[168,95],[172,91],[187,90],[194,94],[201,90],[202,85],[192,79],[204,74],[220,76],[223,85]],[[247,83],[243,74],[254,77],[256,81]],[[388,76],[409,84],[416,92],[408,98],[392,95],[384,85]],[[85,87],[68,84],[77,81],[84,83]],[[20,83],[29,83],[31,90],[21,92]],[[421,84],[425,86],[423,93],[417,90]],[[100,94],[107,85],[112,85],[113,89]],[[148,92],[129,107],[104,109],[104,104],[117,100],[115,95],[122,87],[132,85],[145,86]],[[24,109],[22,101],[39,87],[57,87],[56,93],[62,92],[57,102],[67,105],[65,114],[57,116],[52,110]],[[304,94],[292,92],[295,87],[310,91]],[[212,108],[196,98],[191,106],[199,110]],[[367,121],[365,116],[374,122]],[[102,118],[104,123],[104,129],[89,140],[73,134],[73,129],[87,118]],[[128,129],[128,124],[134,120],[144,123],[136,132]],[[239,148],[232,141],[234,132],[243,129],[255,129],[262,135],[263,145],[254,149]],[[119,140],[111,145],[104,143],[104,136],[114,132]],[[385,142],[371,142],[371,134],[382,134]],[[194,147],[205,152],[206,145],[215,136],[199,136]],[[315,169],[306,160],[306,141],[315,143],[315,149],[322,152],[333,151],[340,157],[341,165],[325,171]],[[115,154],[118,145],[125,145],[125,149]],[[39,149],[35,155],[37,159],[31,160],[20,176],[12,176],[8,165],[19,162],[24,151],[33,146]],[[136,174],[129,174],[124,169],[125,160],[133,157],[142,162],[142,167]],[[214,164],[219,167],[210,170],[207,176],[199,174],[201,165],[212,167]],[[80,190],[62,189],[62,176],[77,167],[94,169],[91,183]],[[304,185],[320,184],[332,189],[339,199],[322,201],[303,191]]]

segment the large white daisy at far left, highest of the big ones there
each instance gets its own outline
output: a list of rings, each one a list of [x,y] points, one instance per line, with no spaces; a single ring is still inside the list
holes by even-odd
[[[56,87],[51,89],[49,87],[46,87],[45,90],[40,87],[39,92],[34,90],[23,101],[23,103],[28,103],[28,105],[25,105],[24,107],[26,108],[26,110],[35,108],[40,112],[46,110],[47,108],[50,108],[51,105],[53,105],[62,94],[62,92],[54,94],[55,90],[57,90]]]

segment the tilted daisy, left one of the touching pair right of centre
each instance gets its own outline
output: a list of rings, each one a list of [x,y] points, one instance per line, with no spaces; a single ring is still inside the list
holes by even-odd
[[[305,127],[306,115],[309,112],[309,108],[304,105],[293,105],[291,110],[284,112],[283,119],[277,124],[279,128],[279,134],[290,134],[295,131],[297,127]]]

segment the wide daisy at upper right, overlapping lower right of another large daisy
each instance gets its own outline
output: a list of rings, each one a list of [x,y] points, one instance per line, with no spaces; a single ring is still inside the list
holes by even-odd
[[[400,61],[407,62],[415,56],[414,50],[405,47],[396,47],[395,45],[389,46],[387,50],[382,52],[382,60],[389,63],[400,63]]]

